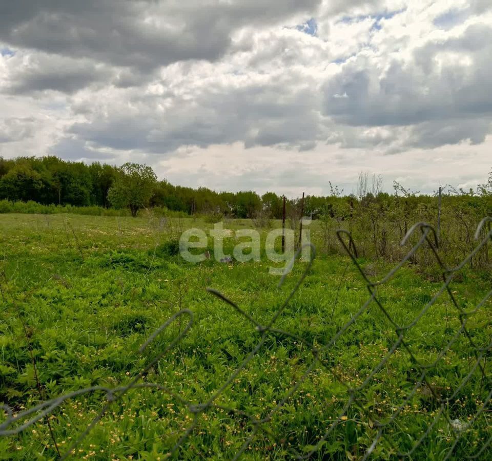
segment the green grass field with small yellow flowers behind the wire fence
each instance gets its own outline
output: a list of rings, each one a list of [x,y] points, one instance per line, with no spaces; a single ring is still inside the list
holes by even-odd
[[[179,255],[170,256],[163,245],[183,228],[211,226],[192,219],[175,220],[163,229],[152,218],[0,215],[0,269],[5,274],[0,276],[2,401],[18,413],[69,391],[129,383],[185,330],[189,316],[175,319],[144,353],[139,347],[186,308],[194,315],[191,329],[139,380],[165,386],[172,395],[158,388],[118,395],[76,446],[75,458],[165,459],[187,435],[174,452],[176,458],[230,459],[258,429],[254,418],[267,417],[296,383],[300,383],[296,391],[247,443],[245,459],[309,453],[337,421],[313,458],[360,459],[378,434],[376,422],[388,422],[392,414],[394,420],[384,426],[374,459],[396,459],[399,451],[413,448],[413,459],[443,459],[456,436],[449,420],[463,426],[474,423],[460,433],[453,457],[478,453],[491,431],[489,406],[473,420],[491,389],[490,300],[468,316],[469,338],[460,334],[429,368],[428,384],[415,392],[422,369],[404,347],[392,351],[398,334],[375,302],[320,353],[324,366],[317,363],[302,380],[313,361],[310,344],[330,344],[369,297],[350,258],[321,254],[276,319],[275,328],[292,336],[265,334],[253,360],[218,395],[217,405],[196,413],[196,426],[188,433],[195,416],[186,402],[207,402],[261,337],[254,324],[206,288],[219,290],[266,325],[308,264],[297,261],[279,288],[279,278],[269,274],[271,262],[264,257],[260,262],[230,264],[211,258],[193,265]],[[224,226],[247,228],[251,222],[230,221]],[[315,226],[313,236],[316,242]],[[226,249],[234,243],[227,242]],[[359,263],[372,280],[380,280],[391,269],[382,261]],[[378,288],[378,299],[396,324],[408,325],[441,285],[437,269],[405,265]],[[491,286],[490,272],[464,267],[451,289],[460,307],[473,311]],[[405,344],[420,363],[433,363],[460,325],[444,291],[404,332]],[[470,346],[470,338],[476,347]],[[480,361],[485,376],[474,367],[476,348],[485,348]],[[362,384],[344,411],[350,399],[347,387]],[[437,423],[417,444],[438,414],[435,395],[453,396],[453,401],[444,405]],[[67,400],[50,413],[62,454],[105,402],[105,392],[94,391]],[[5,421],[6,415],[2,418]],[[0,438],[1,459],[57,456],[45,419]]]

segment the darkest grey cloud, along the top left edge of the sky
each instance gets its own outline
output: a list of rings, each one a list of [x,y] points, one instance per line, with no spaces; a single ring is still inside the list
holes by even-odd
[[[313,12],[320,0],[4,0],[0,39],[16,47],[152,69],[218,59],[244,25]]]

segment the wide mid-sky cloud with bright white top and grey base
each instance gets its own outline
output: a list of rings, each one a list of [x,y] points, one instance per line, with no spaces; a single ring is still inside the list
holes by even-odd
[[[297,72],[245,78],[225,65],[176,64],[161,79],[145,94],[105,90],[96,107],[92,94],[77,95],[73,107],[86,121],[73,124],[70,132],[100,146],[154,153],[181,145],[305,145],[322,139],[311,81]]]

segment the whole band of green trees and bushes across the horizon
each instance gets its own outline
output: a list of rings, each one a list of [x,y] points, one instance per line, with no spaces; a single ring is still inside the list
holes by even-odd
[[[382,192],[380,176],[359,174],[354,178],[355,194],[344,194],[329,183],[327,196],[306,196],[304,215],[313,219],[330,216],[339,221],[358,220],[360,226],[370,225],[382,240],[392,232],[376,221],[398,220],[404,234],[404,223],[420,216],[437,216],[436,194],[422,195],[394,183],[394,193]],[[133,185],[132,185],[133,184]],[[140,185],[140,187],[138,187]],[[437,186],[436,186],[437,188]],[[110,193],[112,189],[112,192]],[[474,207],[477,213],[492,209],[492,172],[488,181],[476,190],[456,190],[444,187],[443,203],[450,207]],[[127,163],[120,168],[99,164],[65,162],[56,157],[20,157],[5,160],[0,157],[0,200],[9,202],[36,201],[43,205],[99,206],[127,208],[133,215],[143,207],[160,207],[186,215],[206,216],[211,222],[222,218],[257,218],[267,224],[269,219],[281,219],[282,197],[267,192],[261,197],[251,191],[215,192],[206,187],[175,186],[167,180],[157,181],[150,167]],[[290,219],[300,219],[299,199],[286,203]],[[468,209],[465,210],[468,213]],[[466,214],[465,213],[465,214]],[[297,227],[297,226],[296,226]],[[373,238],[374,241],[374,238]],[[376,236],[376,241],[378,237]],[[374,252],[376,253],[376,252]],[[378,249],[379,253],[379,249]]]

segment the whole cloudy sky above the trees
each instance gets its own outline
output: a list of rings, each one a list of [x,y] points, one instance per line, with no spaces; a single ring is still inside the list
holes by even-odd
[[[490,0],[2,0],[0,156],[217,191],[492,170]]]

